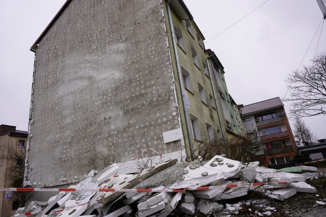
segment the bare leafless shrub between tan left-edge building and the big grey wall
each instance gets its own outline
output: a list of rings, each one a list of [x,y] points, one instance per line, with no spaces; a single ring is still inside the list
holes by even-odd
[[[26,146],[17,147],[5,145],[2,147],[4,154],[0,156],[1,161],[7,162],[6,178],[11,181],[11,187],[23,188],[24,164],[26,158]],[[20,201],[20,207],[25,206],[33,197],[34,192],[13,192],[13,201]]]

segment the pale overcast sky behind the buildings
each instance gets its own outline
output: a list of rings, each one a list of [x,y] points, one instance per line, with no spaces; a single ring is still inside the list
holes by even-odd
[[[0,1],[0,124],[28,130],[34,62],[30,47],[64,2]],[[184,2],[208,41],[266,0]],[[247,105],[274,97],[282,99],[286,92],[284,79],[300,66],[321,19],[315,0],[269,0],[206,42],[205,47],[218,55],[225,68],[228,90],[235,102]],[[304,65],[315,55],[319,34],[320,27]],[[317,53],[325,51],[326,22]],[[290,103],[284,104],[289,113]],[[326,138],[326,116],[304,120],[319,139]]]

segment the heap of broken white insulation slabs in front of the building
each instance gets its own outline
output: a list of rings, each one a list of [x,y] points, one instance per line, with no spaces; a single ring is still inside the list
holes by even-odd
[[[179,213],[204,215],[233,213],[243,204],[221,204],[222,200],[257,191],[284,200],[296,192],[315,193],[299,173],[317,168],[299,166],[281,170],[259,167],[258,162],[242,164],[222,156],[210,161],[177,163],[169,160],[134,174],[120,174],[116,164],[101,171],[92,170],[80,181],[47,202],[31,202],[14,216],[159,216]],[[296,173],[293,173],[296,172]],[[94,190],[94,191],[92,191]],[[273,211],[273,209],[270,209]],[[270,211],[262,213],[269,215]]]

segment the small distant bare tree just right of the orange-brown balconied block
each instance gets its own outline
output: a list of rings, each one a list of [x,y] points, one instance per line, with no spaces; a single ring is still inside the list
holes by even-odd
[[[312,144],[316,142],[316,135],[306,126],[305,121],[300,117],[295,118],[294,122],[294,139],[297,146]]]

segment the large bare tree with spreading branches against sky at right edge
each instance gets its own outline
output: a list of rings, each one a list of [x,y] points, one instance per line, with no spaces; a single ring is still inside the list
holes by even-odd
[[[294,116],[308,117],[326,114],[326,53],[318,54],[310,66],[295,70],[288,75],[286,82],[292,101]]]

